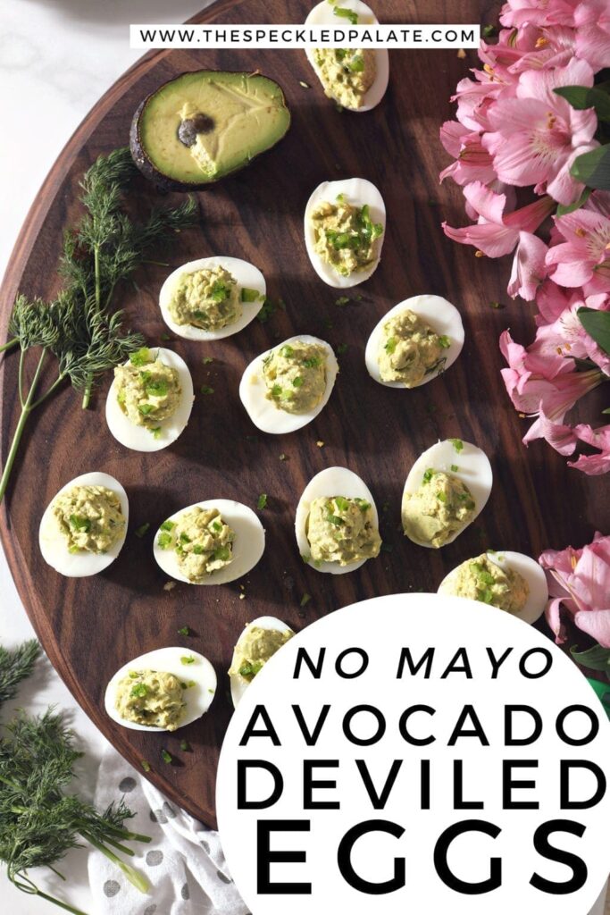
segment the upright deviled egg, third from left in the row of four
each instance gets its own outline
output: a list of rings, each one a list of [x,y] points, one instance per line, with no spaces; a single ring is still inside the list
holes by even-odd
[[[379,517],[369,487],[345,467],[321,470],[296,506],[299,552],[319,572],[343,575],[380,554]]]

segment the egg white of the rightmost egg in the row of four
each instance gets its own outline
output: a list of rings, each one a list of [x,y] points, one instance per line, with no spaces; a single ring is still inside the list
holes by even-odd
[[[457,477],[466,483],[466,486],[471,491],[473,499],[475,500],[475,511],[471,520],[461,527],[459,531],[452,534],[446,543],[443,544],[444,546],[446,546],[446,544],[453,544],[455,538],[465,531],[466,527],[475,521],[481,511],[483,511],[487,504],[487,499],[489,498],[493,483],[493,472],[486,453],[481,451],[476,445],[471,445],[470,442],[463,442],[463,445],[463,449],[458,452],[455,450],[453,442],[447,438],[443,442],[436,442],[435,445],[427,448],[413,464],[405,481],[404,490],[402,490],[403,499],[405,493],[412,494],[419,490],[422,485],[423,474],[428,468],[442,470],[444,473],[447,473],[452,477]],[[452,465],[455,465],[457,470],[452,470]],[[409,536],[409,534],[407,534],[407,536]],[[424,544],[419,540],[413,540],[412,537],[409,539],[412,540],[414,544],[434,549],[431,544]]]

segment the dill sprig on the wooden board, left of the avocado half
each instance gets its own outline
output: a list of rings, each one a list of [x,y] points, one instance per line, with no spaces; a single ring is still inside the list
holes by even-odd
[[[82,406],[91,401],[99,375],[125,361],[144,346],[139,333],[123,329],[123,313],[112,309],[117,284],[144,264],[156,245],[169,242],[195,222],[195,199],[173,209],[154,209],[144,222],[134,221],[123,209],[124,190],[137,175],[126,148],[100,156],[80,182],[85,213],[64,233],[59,274],[64,287],[52,302],[17,296],[9,322],[9,339],[0,351],[18,346],[18,393],[21,415],[0,479],[0,501],[27,418],[64,382],[82,392]],[[26,390],[26,353],[37,350],[31,382]],[[48,357],[57,361],[57,373],[43,393],[39,386]]]

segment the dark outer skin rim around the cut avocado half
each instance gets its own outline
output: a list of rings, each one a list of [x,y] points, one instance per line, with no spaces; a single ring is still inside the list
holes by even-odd
[[[278,145],[278,143],[280,143],[284,139],[284,136],[288,133],[291,123],[292,123],[290,109],[289,109],[288,105],[286,104],[284,91],[283,91],[282,87],[275,80],[272,80],[271,77],[264,77],[265,79],[269,80],[270,82],[273,82],[274,85],[277,86],[277,88],[282,96],[284,108],[286,110],[286,113],[288,114],[288,121],[286,124],[286,128],[284,130],[284,134],[279,136],[272,145],[267,146],[265,149],[262,149],[261,152],[257,153],[254,156],[251,156],[250,159],[246,158],[244,160],[244,162],[241,163],[241,165],[231,168],[230,171],[222,172],[222,174],[219,175],[217,178],[212,178],[210,180],[197,181],[197,182],[178,181],[176,178],[170,178],[168,175],[164,174],[164,172],[160,171],[155,166],[152,159],[146,154],[144,144],[142,143],[142,138],[140,135],[140,126],[142,124],[144,110],[145,110],[148,102],[150,102],[151,99],[155,95],[158,94],[158,92],[162,92],[163,90],[166,89],[167,86],[170,86],[172,83],[174,83],[178,80],[181,80],[183,77],[190,76],[190,75],[192,75],[194,73],[198,73],[198,72],[222,73],[223,75],[238,76],[238,77],[254,76],[254,75],[264,77],[263,73],[260,73],[258,71],[256,71],[256,73],[252,73],[251,70],[250,71],[245,71],[245,70],[244,71],[239,71],[239,70],[187,70],[184,73],[179,73],[173,79],[162,83],[153,92],[150,92],[144,98],[144,100],[142,102],[140,102],[140,104],[138,105],[138,107],[135,110],[134,117],[132,119],[132,123],[131,123],[130,129],[129,129],[129,147],[130,147],[130,151],[132,154],[132,158],[134,159],[134,164],[140,169],[140,171],[144,175],[144,178],[147,178],[149,181],[152,181],[156,185],[156,187],[162,191],[167,192],[167,191],[173,191],[173,190],[177,190],[177,191],[205,190],[206,188],[209,188],[215,184],[218,184],[218,182],[221,181],[223,178],[227,178],[229,175],[235,174],[235,172],[240,171],[241,168],[244,168],[244,167],[250,165],[250,163],[253,162],[254,159],[258,158],[258,156],[261,156],[263,153],[269,152],[269,150],[273,149],[274,146]]]

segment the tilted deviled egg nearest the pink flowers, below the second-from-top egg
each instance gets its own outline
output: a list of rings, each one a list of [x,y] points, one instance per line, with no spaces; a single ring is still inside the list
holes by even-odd
[[[464,346],[457,308],[441,296],[412,296],[373,328],[364,359],[371,378],[389,388],[417,388],[452,366]]]

